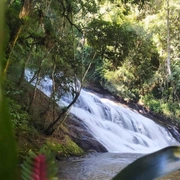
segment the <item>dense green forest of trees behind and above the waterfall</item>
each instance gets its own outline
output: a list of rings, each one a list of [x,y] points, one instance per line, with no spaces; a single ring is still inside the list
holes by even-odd
[[[51,136],[89,84],[179,121],[179,0],[6,0],[4,6],[2,77],[17,137]],[[25,80],[27,69],[34,87]],[[47,76],[53,81],[48,107],[66,93],[74,99],[42,126],[31,112]],[[28,148],[18,149],[22,158]]]

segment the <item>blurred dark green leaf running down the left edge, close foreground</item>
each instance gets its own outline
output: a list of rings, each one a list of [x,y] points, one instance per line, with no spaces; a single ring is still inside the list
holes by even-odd
[[[3,96],[4,1],[0,1],[0,179],[18,179],[16,144],[8,107]]]

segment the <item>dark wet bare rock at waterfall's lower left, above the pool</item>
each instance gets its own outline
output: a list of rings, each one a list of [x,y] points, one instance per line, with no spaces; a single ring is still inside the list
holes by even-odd
[[[107,152],[106,147],[92,136],[82,120],[71,115],[66,121],[66,126],[68,127],[68,135],[84,151]]]

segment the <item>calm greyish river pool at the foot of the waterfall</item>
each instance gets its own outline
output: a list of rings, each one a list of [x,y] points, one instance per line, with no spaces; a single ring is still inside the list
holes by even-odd
[[[140,154],[95,153],[59,161],[59,180],[110,180]],[[158,180],[180,180],[176,171]]]

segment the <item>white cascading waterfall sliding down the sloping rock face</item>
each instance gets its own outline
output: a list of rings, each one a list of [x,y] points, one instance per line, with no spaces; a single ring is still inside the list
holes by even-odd
[[[27,80],[32,77],[26,70]],[[51,94],[52,80],[46,77],[38,88]],[[68,105],[71,95],[62,97],[59,105]],[[106,98],[81,90],[70,112],[84,121],[93,136],[109,152],[149,153],[178,142],[169,131],[154,121]]]

